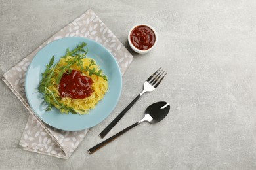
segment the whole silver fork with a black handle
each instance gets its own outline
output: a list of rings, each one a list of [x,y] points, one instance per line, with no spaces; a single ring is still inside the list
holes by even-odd
[[[98,135],[101,138],[104,138],[106,134],[119,122],[119,120],[125,115],[125,113],[136,103],[136,101],[145,93],[145,92],[152,92],[155,90],[158,85],[160,84],[161,80],[165,77],[167,74],[167,71],[165,69],[162,69],[161,67],[153,73],[147,80],[144,82],[144,89],[143,91],[133,99],[133,101],[123,109],[121,113],[116,116],[114,120]]]

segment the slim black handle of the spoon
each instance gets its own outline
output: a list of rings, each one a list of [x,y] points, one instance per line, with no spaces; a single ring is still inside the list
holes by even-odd
[[[118,133],[116,133],[116,135],[113,135],[112,137],[106,139],[106,140],[103,141],[102,143],[99,143],[99,144],[97,144],[96,146],[94,146],[93,148],[90,148],[90,149],[88,150],[88,153],[89,153],[89,154],[93,154],[94,152],[96,152],[96,150],[98,150],[98,149],[102,148],[103,146],[105,146],[106,144],[108,144],[108,143],[114,141],[114,139],[116,139],[117,137],[123,135],[123,133],[125,133],[126,131],[129,131],[129,129],[131,129],[131,128],[137,126],[137,125],[139,125],[140,123],[141,123],[141,121],[136,122],[135,124],[133,124],[133,125],[131,125],[131,126],[129,126],[129,127],[126,127],[126,128],[123,129],[122,131],[119,131]]]

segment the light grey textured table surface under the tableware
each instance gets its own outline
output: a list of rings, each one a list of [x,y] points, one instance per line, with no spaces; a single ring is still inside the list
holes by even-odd
[[[256,1],[7,1],[0,2],[0,74],[92,9],[133,54],[116,109],[90,129],[68,160],[22,150],[28,111],[0,82],[0,169],[256,169]],[[129,29],[152,25],[158,45],[135,54]],[[135,127],[89,156],[98,133],[142,90],[158,67],[168,74],[110,132],[167,101],[159,124]]]

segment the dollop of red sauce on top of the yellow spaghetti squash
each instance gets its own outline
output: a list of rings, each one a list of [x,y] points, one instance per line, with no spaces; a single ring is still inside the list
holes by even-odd
[[[91,78],[81,75],[79,71],[72,70],[70,74],[64,73],[62,75],[58,90],[61,97],[85,99],[93,93],[92,84],[93,80]]]

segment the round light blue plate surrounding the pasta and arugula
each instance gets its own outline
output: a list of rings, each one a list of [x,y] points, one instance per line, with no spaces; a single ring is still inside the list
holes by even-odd
[[[52,56],[55,56],[54,63],[57,63],[66,53],[66,48],[74,49],[81,42],[87,43],[87,56],[95,59],[100,69],[108,76],[108,92],[89,114],[61,114],[56,108],[45,112],[46,105],[41,93],[37,92],[41,73],[45,71]],[[121,94],[121,84],[121,73],[116,59],[104,46],[83,37],[67,37],[51,42],[35,55],[26,73],[25,90],[30,107],[43,122],[57,129],[78,131],[95,126],[112,112]]]

